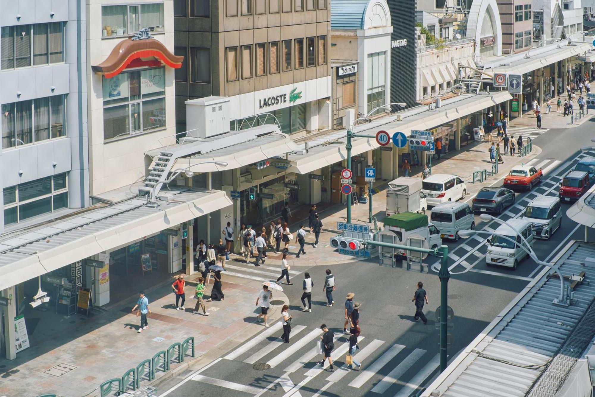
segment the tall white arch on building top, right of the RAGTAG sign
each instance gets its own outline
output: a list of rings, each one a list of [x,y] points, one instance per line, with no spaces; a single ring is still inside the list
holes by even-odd
[[[496,0],[475,0],[469,10],[467,37],[475,39],[477,43],[476,57],[480,57],[481,38],[490,35],[496,36],[490,55],[502,55],[502,22]]]

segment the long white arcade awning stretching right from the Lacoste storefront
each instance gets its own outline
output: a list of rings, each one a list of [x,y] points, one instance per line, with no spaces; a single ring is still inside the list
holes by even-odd
[[[453,122],[459,117],[511,99],[512,95],[508,91],[498,91],[492,95],[459,95],[458,97],[443,100],[442,106],[436,110],[430,111],[427,106],[417,106],[405,111],[399,111],[402,117],[400,121],[396,121],[394,114],[390,114],[372,120],[371,123],[358,125],[354,131],[358,134],[372,136],[375,136],[381,130],[387,131],[390,135],[396,131],[409,135],[412,129],[430,130],[444,123]],[[347,158],[345,141],[346,132],[340,131],[308,142],[307,152],[300,147],[300,151],[289,154],[288,158],[291,166],[287,169],[287,172],[305,174],[337,163],[340,160],[345,160]],[[379,146],[374,138],[353,138],[351,142],[353,146],[352,156],[357,156]]]

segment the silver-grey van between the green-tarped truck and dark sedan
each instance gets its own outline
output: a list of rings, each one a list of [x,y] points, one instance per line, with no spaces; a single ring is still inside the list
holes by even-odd
[[[442,203],[432,209],[430,221],[440,230],[440,237],[459,241],[459,230],[475,229],[473,211],[467,203]]]

